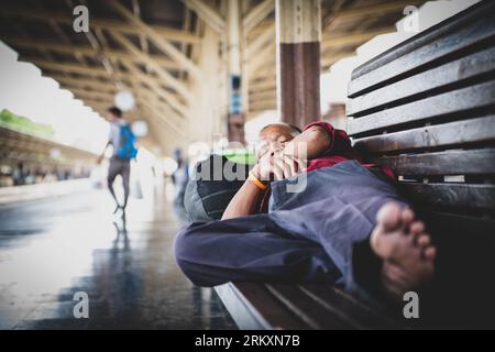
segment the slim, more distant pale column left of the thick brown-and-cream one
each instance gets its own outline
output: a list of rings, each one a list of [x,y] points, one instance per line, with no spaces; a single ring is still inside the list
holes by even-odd
[[[245,116],[242,103],[241,19],[239,0],[228,1],[229,51],[229,142],[244,144]]]

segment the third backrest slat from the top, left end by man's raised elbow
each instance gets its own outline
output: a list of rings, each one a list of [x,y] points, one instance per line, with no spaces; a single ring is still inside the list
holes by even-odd
[[[466,112],[495,105],[495,81],[444,92],[349,121],[349,134]]]

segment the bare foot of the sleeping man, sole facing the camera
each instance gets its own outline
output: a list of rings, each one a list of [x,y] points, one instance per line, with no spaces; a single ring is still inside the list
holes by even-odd
[[[383,260],[382,282],[388,294],[400,297],[421,288],[433,276],[437,249],[425,223],[413,210],[388,202],[376,216],[370,238],[372,250]]]

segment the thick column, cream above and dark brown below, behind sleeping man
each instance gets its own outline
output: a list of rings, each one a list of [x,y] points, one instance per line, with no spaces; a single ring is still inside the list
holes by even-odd
[[[277,103],[280,120],[320,119],[321,0],[276,0]]]

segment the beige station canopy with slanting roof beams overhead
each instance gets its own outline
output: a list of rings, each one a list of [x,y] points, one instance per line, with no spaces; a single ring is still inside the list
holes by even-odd
[[[150,125],[146,143],[170,150],[219,131],[228,107],[229,0],[19,0],[0,9],[0,40],[100,114],[114,95],[136,100],[128,116]],[[321,1],[321,69],[395,32],[407,6],[425,1]],[[274,0],[240,0],[243,101],[248,119],[276,110]],[[74,8],[89,9],[76,33]]]

